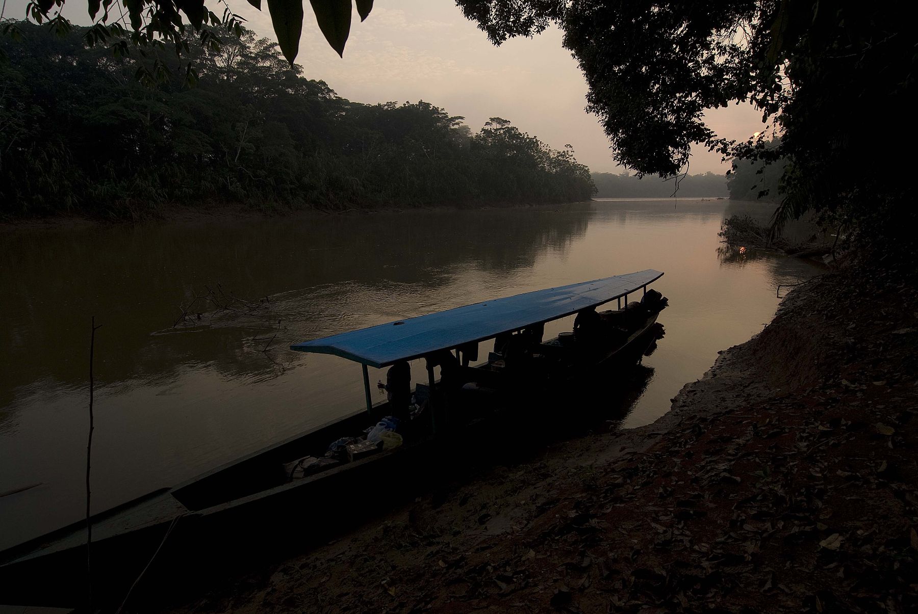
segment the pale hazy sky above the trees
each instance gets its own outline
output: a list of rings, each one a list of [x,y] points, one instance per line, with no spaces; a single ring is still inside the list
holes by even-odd
[[[577,160],[594,172],[623,170],[612,161],[597,118],[583,109],[587,84],[561,47],[560,30],[494,47],[452,0],[376,0],[363,23],[354,11],[341,59],[304,4],[297,63],[305,76],[325,81],[339,95],[363,103],[425,100],[465,116],[473,130],[488,117],[504,117],[554,149],[570,143]],[[25,5],[7,0],[6,17],[24,15]],[[64,15],[85,24],[85,6],[84,0],[70,0]],[[229,0],[229,6],[259,36],[274,39],[266,4],[263,12],[245,0]],[[219,13],[216,5],[211,8]],[[761,115],[750,106],[730,106],[711,112],[709,123],[721,136],[745,139],[761,129]],[[727,168],[719,155],[701,149],[694,151],[690,173]]]

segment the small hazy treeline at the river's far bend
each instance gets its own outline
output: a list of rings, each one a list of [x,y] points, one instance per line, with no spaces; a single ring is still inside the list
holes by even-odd
[[[600,198],[668,198],[676,192],[674,179],[663,180],[656,176],[628,173],[593,173],[593,183]],[[721,174],[690,174],[680,177],[678,182],[679,197],[726,197],[727,180]]]

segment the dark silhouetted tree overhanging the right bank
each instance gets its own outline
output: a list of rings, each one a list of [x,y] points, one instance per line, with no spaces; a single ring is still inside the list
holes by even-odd
[[[587,78],[588,110],[616,160],[638,173],[682,172],[692,144],[734,160],[786,159],[776,229],[814,208],[861,239],[913,242],[903,230],[918,221],[907,173],[887,162],[916,136],[912,3],[456,1],[495,44],[562,28]],[[715,134],[705,110],[732,102],[756,105],[778,147],[765,133]]]

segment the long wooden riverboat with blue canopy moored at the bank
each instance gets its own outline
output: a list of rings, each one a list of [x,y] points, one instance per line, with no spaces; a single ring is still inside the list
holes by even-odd
[[[372,515],[374,506],[364,505],[367,493],[378,502],[411,487],[412,480],[393,480],[393,475],[435,474],[431,454],[448,448],[444,441],[450,441],[454,429],[482,419],[487,425],[488,415],[506,414],[508,407],[529,410],[540,400],[564,394],[577,378],[636,363],[660,336],[656,318],[666,298],[648,286],[662,275],[652,269],[615,275],[292,345],[294,351],[335,354],[359,363],[365,407],[93,515],[93,606],[118,607],[141,576],[146,584],[155,575],[157,586],[177,586],[181,578],[199,578],[202,569],[229,560],[269,556],[283,548],[301,552],[325,539],[332,525]],[[629,302],[638,293],[640,300]],[[617,301],[616,309],[596,312],[611,301]],[[601,320],[592,338],[580,334],[585,325],[578,334],[561,333],[550,340],[536,334],[546,322],[574,314],[584,321]],[[487,340],[495,340],[494,350],[476,363],[478,347]],[[525,361],[511,357],[513,340],[527,341]],[[394,442],[391,449],[367,442],[365,427],[372,428],[391,409],[388,400],[373,402],[368,367],[438,352],[450,352],[461,364],[461,381],[447,390],[428,361],[426,384],[413,389],[409,435],[401,445],[386,440]],[[330,450],[330,443],[341,441]],[[372,486],[381,484],[387,486]],[[0,603],[84,605],[86,548],[86,520],[81,520],[0,553]]]

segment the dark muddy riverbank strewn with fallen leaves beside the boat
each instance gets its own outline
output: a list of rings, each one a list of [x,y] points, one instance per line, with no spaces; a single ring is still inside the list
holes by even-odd
[[[800,285],[654,424],[457,481],[174,611],[913,610],[914,281]]]

